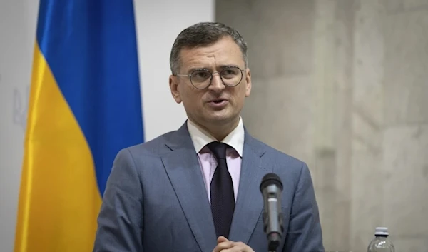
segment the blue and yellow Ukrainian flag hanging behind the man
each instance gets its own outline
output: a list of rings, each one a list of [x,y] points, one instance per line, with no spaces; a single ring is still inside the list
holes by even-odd
[[[133,1],[41,0],[14,251],[92,251],[113,159],[141,142]]]

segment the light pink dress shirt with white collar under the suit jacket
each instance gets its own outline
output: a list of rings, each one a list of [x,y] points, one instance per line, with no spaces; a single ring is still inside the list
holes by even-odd
[[[208,201],[211,202],[210,183],[213,178],[215,168],[217,167],[217,160],[206,145],[217,140],[215,140],[213,136],[210,136],[209,133],[203,131],[203,129],[193,124],[190,119],[188,119],[187,124],[190,138],[192,138],[193,141],[193,146],[195,146],[195,151],[198,153],[198,160],[203,174],[205,188],[207,190]],[[230,134],[226,136],[223,141],[221,141],[222,143],[227,143],[232,147],[228,148],[226,151],[226,162],[228,163],[228,170],[230,176],[232,177],[235,202],[238,196],[241,161],[244,148],[244,135],[243,121],[240,119],[238,126],[232,132],[230,132]]]

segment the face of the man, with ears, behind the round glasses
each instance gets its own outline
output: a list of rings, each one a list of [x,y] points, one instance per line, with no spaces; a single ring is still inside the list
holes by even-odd
[[[220,73],[225,66],[238,66],[245,70],[240,83],[233,87],[225,86],[220,74],[213,74],[210,86],[205,89],[196,89],[189,77],[170,76],[173,98],[177,103],[183,101],[189,119],[196,124],[210,126],[238,121],[245,97],[250,96],[251,77],[235,41],[227,36],[209,46],[183,49],[180,59],[178,74],[191,74],[195,69]]]

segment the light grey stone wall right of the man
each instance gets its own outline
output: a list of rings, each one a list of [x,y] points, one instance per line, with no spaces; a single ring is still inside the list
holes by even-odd
[[[250,46],[258,138],[307,161],[328,251],[428,252],[428,1],[217,0]]]

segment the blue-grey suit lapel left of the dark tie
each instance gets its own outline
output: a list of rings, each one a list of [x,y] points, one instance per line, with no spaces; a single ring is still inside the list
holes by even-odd
[[[213,251],[217,245],[213,216],[198,156],[186,124],[172,133],[165,144],[171,152],[162,158],[163,165],[193,236],[201,251]]]

